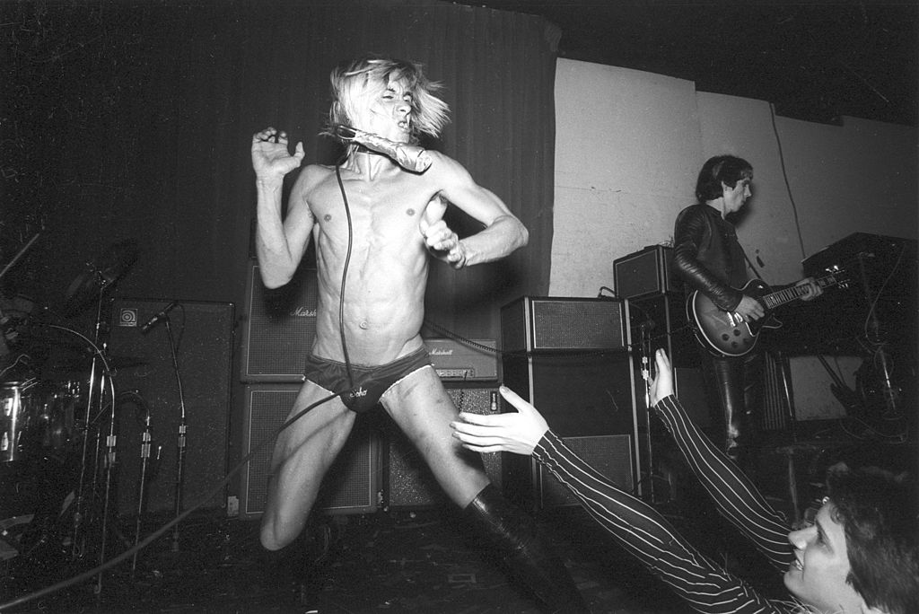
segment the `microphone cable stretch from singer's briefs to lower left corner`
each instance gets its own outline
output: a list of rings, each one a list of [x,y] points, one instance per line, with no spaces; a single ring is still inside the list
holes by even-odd
[[[282,430],[284,430],[288,426],[295,423],[297,420],[301,419],[302,416],[312,411],[313,408],[323,403],[328,403],[329,401],[332,401],[336,397],[341,396],[341,394],[342,392],[338,392],[336,394],[330,394],[329,396],[326,396],[311,405],[307,405],[306,407],[301,409],[301,411],[298,412],[296,415],[294,415],[293,417],[289,418],[286,422],[284,422],[281,426],[278,426],[266,438],[264,438],[257,446],[255,446],[254,449],[252,449],[248,454],[246,454],[242,460],[236,463],[236,466],[233,467],[233,470],[227,473],[226,477],[223,478],[223,480],[221,480],[220,483],[214,486],[214,488],[212,488],[210,492],[206,493],[203,497],[201,497],[198,503],[196,503],[194,506],[189,507],[186,511],[182,512],[181,514],[179,514],[178,516],[176,516],[175,518],[167,522],[160,529],[156,529],[155,531],[153,531],[153,533],[151,533],[146,538],[144,538],[142,541],[140,541],[136,546],[130,548],[127,551],[121,552],[118,556],[108,559],[108,561],[106,561],[105,563],[96,565],[96,567],[88,571],[85,571],[82,574],[71,576],[70,578],[64,579],[61,582],[58,582],[57,584],[46,586],[32,593],[28,593],[27,595],[23,595],[22,597],[17,597],[10,601],[0,603],[0,612],[5,611],[7,608],[15,608],[17,606],[21,606],[24,603],[28,603],[29,601],[33,601],[40,597],[47,597],[48,595],[56,593],[69,586],[74,586],[81,582],[85,582],[86,580],[93,578],[97,574],[101,574],[102,572],[114,567],[118,563],[121,563],[122,561],[129,559],[131,556],[134,555],[135,552],[142,551],[144,548],[146,548],[151,543],[153,543],[153,541],[162,537],[166,531],[175,527],[176,524],[178,524],[182,520],[185,520],[192,512],[196,511],[200,506],[203,506],[204,504],[206,504],[214,496],[219,495],[221,492],[221,489],[227,483],[230,482],[231,478],[233,478],[233,476],[236,475],[236,473],[238,473],[241,469],[243,469],[246,463],[248,463],[249,460],[252,460],[252,457],[254,457],[255,454],[262,451],[262,449],[264,449],[268,445],[268,443],[270,443],[274,438],[278,437],[278,433],[280,433]]]

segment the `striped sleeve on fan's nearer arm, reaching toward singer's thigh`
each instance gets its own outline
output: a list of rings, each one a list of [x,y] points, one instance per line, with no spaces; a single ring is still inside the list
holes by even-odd
[[[566,486],[615,540],[675,593],[707,614],[789,614],[691,546],[652,506],[619,489],[547,431],[533,457]]]

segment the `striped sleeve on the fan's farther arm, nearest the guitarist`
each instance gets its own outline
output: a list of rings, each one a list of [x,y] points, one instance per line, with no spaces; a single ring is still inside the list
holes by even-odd
[[[789,527],[737,466],[712,445],[671,395],[654,405],[692,472],[721,516],[754,542],[770,563],[784,571],[794,560]]]

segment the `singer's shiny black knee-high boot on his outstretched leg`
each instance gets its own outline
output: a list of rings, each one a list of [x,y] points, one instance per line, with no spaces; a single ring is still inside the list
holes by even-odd
[[[466,506],[465,516],[498,551],[511,574],[552,612],[587,612],[562,559],[539,536],[536,521],[489,484]]]

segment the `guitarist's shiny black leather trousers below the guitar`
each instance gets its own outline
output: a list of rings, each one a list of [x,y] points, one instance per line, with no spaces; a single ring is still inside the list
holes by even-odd
[[[699,347],[702,372],[712,407],[712,424],[719,425],[715,443],[748,475],[755,467],[756,426],[762,414],[763,355],[750,352],[738,357],[715,357]]]

